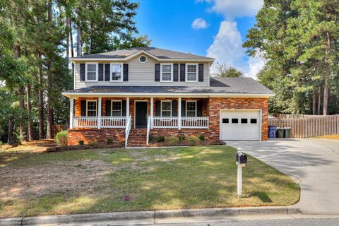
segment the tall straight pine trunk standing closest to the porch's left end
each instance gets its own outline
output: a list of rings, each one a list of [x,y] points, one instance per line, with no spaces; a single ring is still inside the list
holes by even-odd
[[[52,29],[52,0],[48,2],[49,29]],[[47,59],[47,139],[53,138],[52,57]]]

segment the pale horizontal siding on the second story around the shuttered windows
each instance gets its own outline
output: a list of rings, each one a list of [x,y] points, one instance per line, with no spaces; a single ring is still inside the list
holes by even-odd
[[[109,63],[110,62],[103,62],[102,64],[109,64]],[[155,82],[155,64],[160,64],[160,63],[161,62],[155,61],[155,59],[153,59],[152,57],[147,57],[147,61],[145,61],[144,63],[141,63],[139,61],[139,56],[137,56],[129,61],[124,62],[124,64],[129,64],[129,81],[114,83],[110,81],[97,81],[97,82],[80,81],[80,63],[77,62],[75,64],[75,69],[74,69],[75,70],[74,88],[79,89],[79,88],[89,87],[92,85],[160,85],[160,86],[168,85],[168,86],[206,86],[206,87],[208,86],[209,70],[210,70],[208,63],[203,64],[203,82],[189,82],[189,81],[188,82],[181,82],[181,81]],[[179,64],[179,69],[180,69],[180,63],[181,62],[173,62],[173,64]],[[178,76],[180,80],[180,71],[179,71]],[[104,77],[105,77],[105,71],[104,71]]]

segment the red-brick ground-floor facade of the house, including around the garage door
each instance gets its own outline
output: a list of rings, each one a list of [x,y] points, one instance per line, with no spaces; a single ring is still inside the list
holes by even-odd
[[[97,98],[78,98],[75,100],[75,115],[81,116],[81,100],[93,100]],[[126,100],[126,98],[102,98],[102,115],[105,115],[106,100]],[[150,98],[130,98],[129,112],[131,114],[131,125],[134,128],[134,103],[136,100],[148,100],[148,112],[150,112]],[[154,98],[153,112],[155,115],[156,100],[177,100],[173,98]],[[182,98],[182,100],[198,100],[191,98]],[[261,139],[268,139],[268,98],[214,98],[204,99],[203,116],[210,117],[209,129],[153,129],[150,136],[191,136],[203,134],[206,140],[217,141],[220,138],[220,109],[261,109],[262,127]],[[124,141],[125,129],[69,129],[69,145],[77,145],[78,141],[98,141],[106,142],[108,138],[114,141]]]

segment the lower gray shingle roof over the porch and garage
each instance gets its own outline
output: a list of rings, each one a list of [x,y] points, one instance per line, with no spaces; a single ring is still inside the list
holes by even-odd
[[[64,93],[186,93],[186,94],[244,94],[273,95],[274,93],[252,78],[210,78],[209,87],[198,86],[131,86],[131,85],[93,85]]]

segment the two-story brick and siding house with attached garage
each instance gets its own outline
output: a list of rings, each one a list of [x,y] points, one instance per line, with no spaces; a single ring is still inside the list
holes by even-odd
[[[69,145],[203,134],[211,140],[267,140],[268,97],[251,78],[211,78],[214,59],[153,47],[84,55],[74,64]]]

